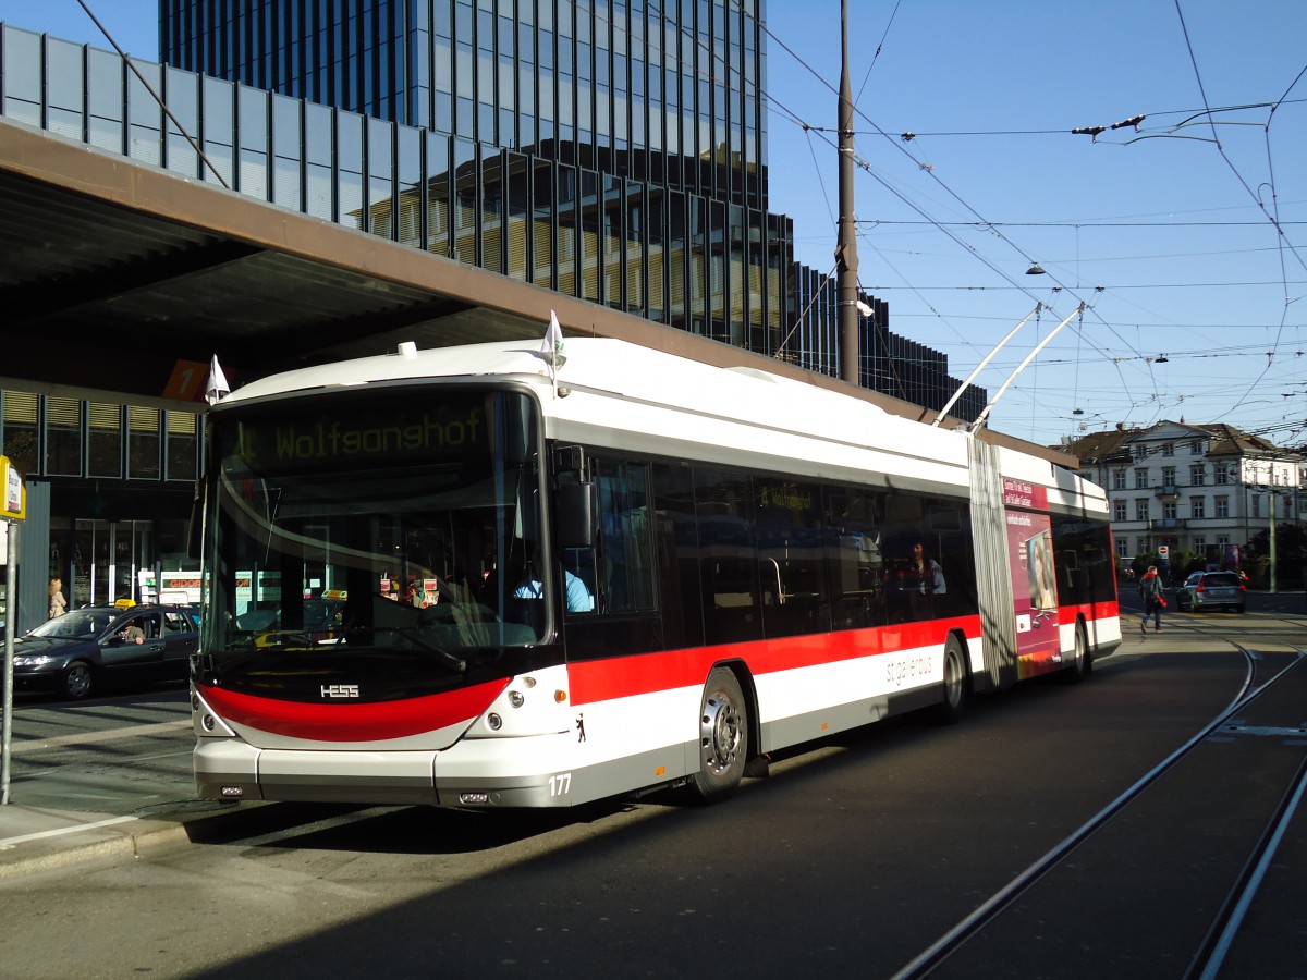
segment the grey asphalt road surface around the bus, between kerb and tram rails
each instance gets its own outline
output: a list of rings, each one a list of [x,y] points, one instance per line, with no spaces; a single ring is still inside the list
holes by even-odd
[[[1249,661],[1225,638],[1264,651],[1266,679],[1294,662],[1295,639],[1307,645],[1307,617],[1171,617],[1084,685],[983,698],[953,727],[910,717],[808,746],[714,808],[652,796],[563,813],[278,804],[212,818],[192,843],[133,861],[0,881],[0,972],[893,976],[1231,703]],[[1303,694],[1259,707],[1266,719],[1249,710],[1246,728],[1307,721]],[[180,764],[170,746],[190,745],[159,728],[184,719],[180,691],[20,712],[50,712],[50,738],[61,712],[68,736],[89,719],[136,729],[63,746],[97,792],[112,754],[142,757],[142,783],[166,787]],[[1307,750],[1289,737],[1205,740],[938,975],[1185,976],[1294,751]],[[44,766],[29,787],[59,768],[18,758],[24,779]],[[1221,976],[1307,970],[1304,844],[1298,815]]]

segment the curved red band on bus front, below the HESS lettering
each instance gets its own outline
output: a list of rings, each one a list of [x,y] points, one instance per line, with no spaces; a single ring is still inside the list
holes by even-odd
[[[507,678],[423,698],[306,703],[259,698],[200,685],[200,696],[223,719],[285,738],[372,742],[471,724],[507,686]]]

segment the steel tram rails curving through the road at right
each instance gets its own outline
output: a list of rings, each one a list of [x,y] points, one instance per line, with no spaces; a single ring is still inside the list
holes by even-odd
[[[1124,618],[1124,617],[1123,617]],[[1281,619],[1280,622],[1285,622]],[[1293,635],[1297,621],[1289,621],[1283,630]],[[1212,635],[1201,623],[1185,623],[1179,626],[1174,619],[1170,629],[1191,629],[1195,632]],[[1302,621],[1302,629],[1307,630],[1307,619]],[[1277,630],[1278,636],[1281,631]],[[940,972],[948,964],[965,966],[968,943],[983,936],[987,929],[999,923],[1002,916],[1016,908],[1017,903],[1027,895],[1036,885],[1050,874],[1064,868],[1087,841],[1099,835],[1104,828],[1119,821],[1129,808],[1144,800],[1168,774],[1175,772],[1182,763],[1193,757],[1196,750],[1212,738],[1223,738],[1227,734],[1242,730],[1242,720],[1251,708],[1255,708],[1266,696],[1280,689],[1280,685],[1289,679],[1299,679],[1307,674],[1307,651],[1299,645],[1272,639],[1261,645],[1283,645],[1286,649],[1265,651],[1252,648],[1240,643],[1229,642],[1230,647],[1243,655],[1247,669],[1242,683],[1229,704],[1222,708],[1208,724],[1196,732],[1187,742],[1175,749],[1170,755],[1145,772],[1134,784],[1127,788],[1120,796],[1107,806],[1094,814],[1077,830],[1053,845],[1034,864],[1017,874],[1008,885],[993,892],[982,902],[971,913],[958,921],[951,929],[940,936],[933,943],[919,953],[912,960],[899,968],[893,976],[895,980],[915,980]],[[1297,632],[1300,642],[1302,632]],[[1282,659],[1291,656],[1291,660],[1282,666],[1272,666],[1270,657]],[[1270,670],[1265,679],[1259,682],[1259,673]],[[1307,724],[1303,717],[1297,719],[1297,724]],[[1285,728],[1285,734],[1291,736],[1291,725]],[[1270,868],[1277,848],[1283,835],[1303,804],[1307,792],[1307,730],[1304,730],[1304,746],[1293,777],[1285,785],[1273,808],[1265,819],[1247,858],[1243,861],[1240,872],[1219,903],[1219,909],[1212,917],[1201,942],[1193,949],[1189,962],[1182,973],[1184,980],[1210,980],[1218,976],[1222,964],[1229,955],[1239,929],[1252,906],[1259,889],[1261,887],[1268,869]],[[962,962],[958,962],[962,960]]]

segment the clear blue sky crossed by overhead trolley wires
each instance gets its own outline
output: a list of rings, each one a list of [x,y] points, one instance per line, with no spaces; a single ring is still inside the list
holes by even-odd
[[[90,5],[157,57],[153,0]],[[1043,303],[976,378],[993,395],[1087,303],[993,429],[1055,444],[1183,418],[1307,443],[1307,3],[850,7],[859,278],[891,329],[962,379]],[[0,20],[108,47],[76,0],[0,0]],[[767,26],[771,210],[830,272],[839,0],[770,0]]]

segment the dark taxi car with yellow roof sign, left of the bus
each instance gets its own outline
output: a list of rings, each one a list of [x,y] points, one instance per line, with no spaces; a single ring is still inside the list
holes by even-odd
[[[74,609],[14,640],[14,690],[80,700],[110,681],[184,681],[199,623],[196,606]]]

